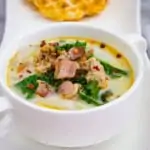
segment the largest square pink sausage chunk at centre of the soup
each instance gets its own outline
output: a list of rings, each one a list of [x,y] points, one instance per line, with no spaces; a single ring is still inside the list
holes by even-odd
[[[55,78],[73,78],[76,74],[76,70],[79,68],[77,62],[67,59],[58,60],[55,64]]]

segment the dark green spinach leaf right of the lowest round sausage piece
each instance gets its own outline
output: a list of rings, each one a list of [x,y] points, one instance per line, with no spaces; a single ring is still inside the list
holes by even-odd
[[[102,104],[101,101],[98,100],[99,91],[100,88],[98,86],[98,82],[96,80],[89,81],[79,91],[79,97],[89,104],[94,104],[96,106],[99,106]]]

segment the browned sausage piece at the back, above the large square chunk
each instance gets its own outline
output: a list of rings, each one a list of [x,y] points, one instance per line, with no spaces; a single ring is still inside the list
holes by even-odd
[[[71,60],[76,60],[78,58],[81,58],[84,55],[85,50],[82,47],[81,48],[80,47],[79,48],[73,47],[69,50],[68,53],[69,53]]]

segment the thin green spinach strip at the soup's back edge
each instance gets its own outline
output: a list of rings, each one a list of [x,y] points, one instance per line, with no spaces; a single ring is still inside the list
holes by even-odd
[[[56,50],[69,51],[73,47],[83,47],[83,48],[86,48],[86,42],[76,41],[74,43],[65,43],[65,44],[62,44],[62,45],[58,45],[56,47]]]

